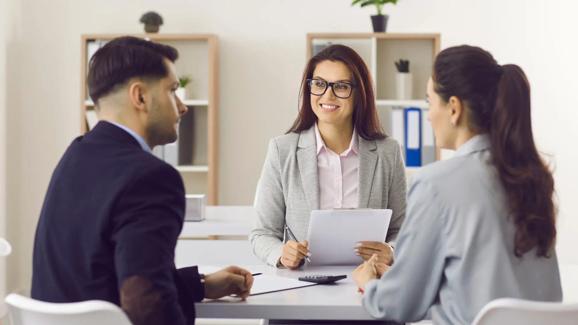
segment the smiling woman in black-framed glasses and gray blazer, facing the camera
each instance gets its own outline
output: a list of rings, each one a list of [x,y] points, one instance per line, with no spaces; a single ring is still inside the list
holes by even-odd
[[[307,63],[299,116],[269,142],[250,240],[257,257],[279,268],[303,265],[303,241],[313,210],[373,208],[393,211],[386,242],[351,248],[390,265],[405,216],[406,175],[399,143],[377,119],[372,77],[350,47],[331,45]],[[298,241],[286,241],[285,226]]]

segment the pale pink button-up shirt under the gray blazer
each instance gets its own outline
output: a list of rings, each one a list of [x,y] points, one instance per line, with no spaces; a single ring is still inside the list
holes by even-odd
[[[359,139],[353,129],[349,148],[336,154],[325,146],[317,123],[315,124],[317,143],[317,175],[319,179],[319,208],[357,208],[357,166]]]

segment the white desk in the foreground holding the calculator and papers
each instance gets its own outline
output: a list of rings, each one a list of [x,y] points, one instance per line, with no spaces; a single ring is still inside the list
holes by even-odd
[[[223,266],[223,265],[215,265]],[[347,275],[335,285],[319,285],[238,298],[204,301],[195,304],[199,318],[227,319],[308,319],[373,320],[361,306],[362,295],[351,279],[355,267],[305,267],[297,270],[244,266],[252,273],[299,278],[304,275]],[[258,276],[258,275],[257,275]],[[257,277],[255,276],[255,277]]]

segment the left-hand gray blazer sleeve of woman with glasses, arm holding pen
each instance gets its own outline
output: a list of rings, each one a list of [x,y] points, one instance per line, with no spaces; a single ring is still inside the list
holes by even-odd
[[[276,266],[284,245],[285,198],[281,186],[279,149],[275,139],[269,141],[256,208],[257,220],[249,237],[253,252],[263,263]]]

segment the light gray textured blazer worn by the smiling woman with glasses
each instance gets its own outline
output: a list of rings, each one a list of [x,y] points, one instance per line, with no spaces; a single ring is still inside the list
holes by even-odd
[[[406,205],[407,180],[401,148],[390,136],[374,141],[360,136],[358,151],[358,207],[393,211],[386,241],[394,246]],[[250,235],[255,255],[276,266],[287,238],[285,224],[298,241],[303,241],[311,212],[318,209],[314,128],[272,139],[257,193],[257,220]]]

